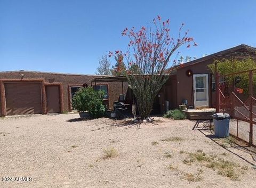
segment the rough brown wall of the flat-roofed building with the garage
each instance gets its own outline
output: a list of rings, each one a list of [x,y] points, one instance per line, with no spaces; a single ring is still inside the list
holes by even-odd
[[[98,75],[69,75],[61,73],[32,72],[32,71],[9,71],[0,72],[0,79],[44,79],[45,83],[62,83],[63,88],[63,111],[69,111],[68,85],[91,85],[91,81],[102,76]],[[99,84],[99,83],[98,83]],[[113,102],[118,100],[122,93],[122,83],[100,83],[108,84],[109,107],[112,108]],[[0,88],[1,89],[1,88]],[[124,91],[127,90],[127,83],[124,83]],[[2,99],[3,100],[3,99]],[[0,101],[0,103],[2,103]]]

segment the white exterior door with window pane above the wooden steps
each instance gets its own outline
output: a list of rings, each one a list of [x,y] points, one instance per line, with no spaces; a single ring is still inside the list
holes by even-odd
[[[209,107],[209,84],[207,74],[193,75],[194,107]]]

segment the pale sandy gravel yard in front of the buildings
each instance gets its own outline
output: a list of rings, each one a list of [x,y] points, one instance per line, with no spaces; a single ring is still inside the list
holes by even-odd
[[[77,117],[0,118],[0,187],[256,187],[251,153],[236,147],[229,152],[211,135],[191,130],[194,121],[156,118],[154,124],[139,127]],[[162,141],[170,137],[173,140]],[[103,150],[109,148],[117,155],[106,159]],[[200,162],[182,162],[197,150],[235,162],[239,180]],[[191,176],[195,178],[188,181]],[[32,181],[18,182],[15,177]]]

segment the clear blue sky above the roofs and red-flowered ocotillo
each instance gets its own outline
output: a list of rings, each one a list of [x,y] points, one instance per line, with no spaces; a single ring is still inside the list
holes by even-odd
[[[156,15],[170,18],[174,37],[182,22],[190,30],[198,46],[180,48],[183,56],[256,47],[255,7],[254,0],[0,0],[0,71],[93,74],[102,54],[126,50],[125,27]]]

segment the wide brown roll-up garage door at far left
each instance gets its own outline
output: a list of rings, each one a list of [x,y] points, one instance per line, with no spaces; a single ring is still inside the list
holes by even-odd
[[[5,83],[7,116],[42,113],[41,83]]]

